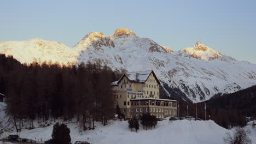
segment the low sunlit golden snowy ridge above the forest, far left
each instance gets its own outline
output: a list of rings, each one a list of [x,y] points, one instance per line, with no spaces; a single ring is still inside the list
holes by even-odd
[[[77,62],[77,53],[70,47],[60,42],[39,38],[26,41],[4,41],[0,43],[0,53],[12,55],[21,63],[51,61],[67,64]]]

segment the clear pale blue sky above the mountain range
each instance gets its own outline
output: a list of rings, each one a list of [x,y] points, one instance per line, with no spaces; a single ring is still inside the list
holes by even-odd
[[[41,38],[74,46],[91,31],[129,28],[174,51],[196,41],[256,64],[256,1],[2,1],[0,41]]]

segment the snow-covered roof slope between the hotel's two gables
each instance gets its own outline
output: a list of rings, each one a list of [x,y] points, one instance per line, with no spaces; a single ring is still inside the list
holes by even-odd
[[[148,76],[152,73],[152,70],[147,71],[137,71],[137,72],[129,72],[125,74],[129,80],[136,81],[136,78],[139,82],[144,82],[148,79]]]

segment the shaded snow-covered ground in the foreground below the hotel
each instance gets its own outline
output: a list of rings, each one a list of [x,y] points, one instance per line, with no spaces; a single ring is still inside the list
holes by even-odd
[[[128,128],[127,121],[111,121],[108,125],[102,126],[97,123],[95,130],[83,131],[79,135],[75,123],[68,124],[71,129],[72,143],[75,141],[89,141],[91,143],[223,143],[223,136],[230,132],[214,123],[213,121],[162,121],[152,130],[144,130],[142,127],[138,133]],[[256,128],[251,130],[251,139],[256,143]],[[21,137],[48,140],[51,137],[53,126],[32,130],[22,130]],[[8,135],[5,133],[4,135]],[[2,135],[3,136],[3,135]],[[89,138],[89,140],[88,140]]]

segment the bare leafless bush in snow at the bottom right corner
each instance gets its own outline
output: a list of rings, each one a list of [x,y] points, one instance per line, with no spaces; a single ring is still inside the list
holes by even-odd
[[[245,130],[241,127],[235,128],[233,131],[234,134],[226,133],[226,136],[223,138],[224,143],[226,144],[251,144],[252,140],[249,139],[251,131]]]

